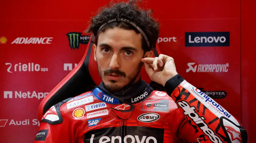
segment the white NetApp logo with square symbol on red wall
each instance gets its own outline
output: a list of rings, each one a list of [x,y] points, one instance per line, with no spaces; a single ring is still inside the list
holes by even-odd
[[[15,98],[45,98],[46,95],[49,94],[49,92],[36,92],[33,91],[32,95],[31,92],[21,92],[21,91],[14,91],[15,92]],[[31,96],[30,96],[31,95]],[[4,98],[12,98],[12,91],[4,91]]]

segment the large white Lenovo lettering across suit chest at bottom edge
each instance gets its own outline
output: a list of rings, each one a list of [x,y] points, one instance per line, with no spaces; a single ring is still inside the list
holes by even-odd
[[[95,136],[95,134],[92,134],[92,135],[91,135],[91,140],[90,140],[91,143],[93,143],[94,136]],[[134,137],[135,137],[135,138],[134,138]],[[128,139],[128,138],[130,138],[130,139]],[[108,136],[102,136],[102,137],[100,138],[99,142],[96,142],[96,143],[107,143],[107,142],[114,143],[116,139],[119,140],[119,141],[117,141],[117,142],[119,142],[119,143],[122,142],[122,141],[121,141],[121,139],[122,139],[121,136],[110,136],[110,138],[109,138]],[[104,140],[104,141],[103,141],[103,140]],[[131,140],[132,143],[149,143],[149,142],[150,142],[150,143],[157,143],[156,138],[155,138],[155,137],[151,137],[151,136],[149,136],[149,137],[143,136],[143,137],[141,138],[141,140],[140,140],[140,138],[139,138],[138,135],[134,135],[134,136],[132,136],[132,135],[126,135],[126,136],[123,138],[123,142],[124,142],[124,143],[127,143],[128,140]],[[150,140],[152,140],[153,142],[150,141]]]

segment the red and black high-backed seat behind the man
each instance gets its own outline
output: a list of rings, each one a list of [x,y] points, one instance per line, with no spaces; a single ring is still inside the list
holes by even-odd
[[[44,113],[56,103],[61,102],[70,97],[75,97],[84,92],[92,90],[96,85],[101,83],[101,77],[98,74],[97,63],[94,61],[94,49],[92,48],[91,39],[87,45],[87,49],[79,64],[74,68],[53,90],[43,99],[38,109],[38,119],[41,121]],[[158,56],[160,50],[158,45],[154,50],[154,56]],[[141,70],[141,79],[148,84],[153,84],[154,88],[163,90],[162,85],[159,85],[150,80],[145,69]],[[152,85],[151,85],[152,86]]]

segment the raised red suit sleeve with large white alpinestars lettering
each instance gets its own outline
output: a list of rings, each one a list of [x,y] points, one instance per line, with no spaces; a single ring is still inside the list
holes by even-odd
[[[165,83],[167,94],[175,101],[181,114],[200,143],[246,143],[247,132],[225,108],[188,83],[179,74]],[[183,131],[180,126],[180,132]],[[188,130],[185,128],[185,130]],[[183,140],[186,137],[181,135]]]

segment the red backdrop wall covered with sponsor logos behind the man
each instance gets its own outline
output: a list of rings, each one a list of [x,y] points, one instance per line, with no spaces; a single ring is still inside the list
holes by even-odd
[[[41,100],[80,61],[90,39],[83,33],[87,22],[108,2],[5,2],[0,9],[0,142],[33,142]],[[248,111],[252,95],[246,86],[253,79],[248,70],[243,71],[246,80],[241,77],[241,49],[250,46],[241,47],[241,1],[158,0],[145,7],[154,9],[161,24],[158,45],[174,58],[178,73],[242,121],[249,142],[256,141],[250,138],[255,125],[249,122],[255,117]],[[248,14],[242,11],[245,22]],[[242,36],[246,42],[248,35]],[[243,63],[249,67],[250,52],[244,51]]]

